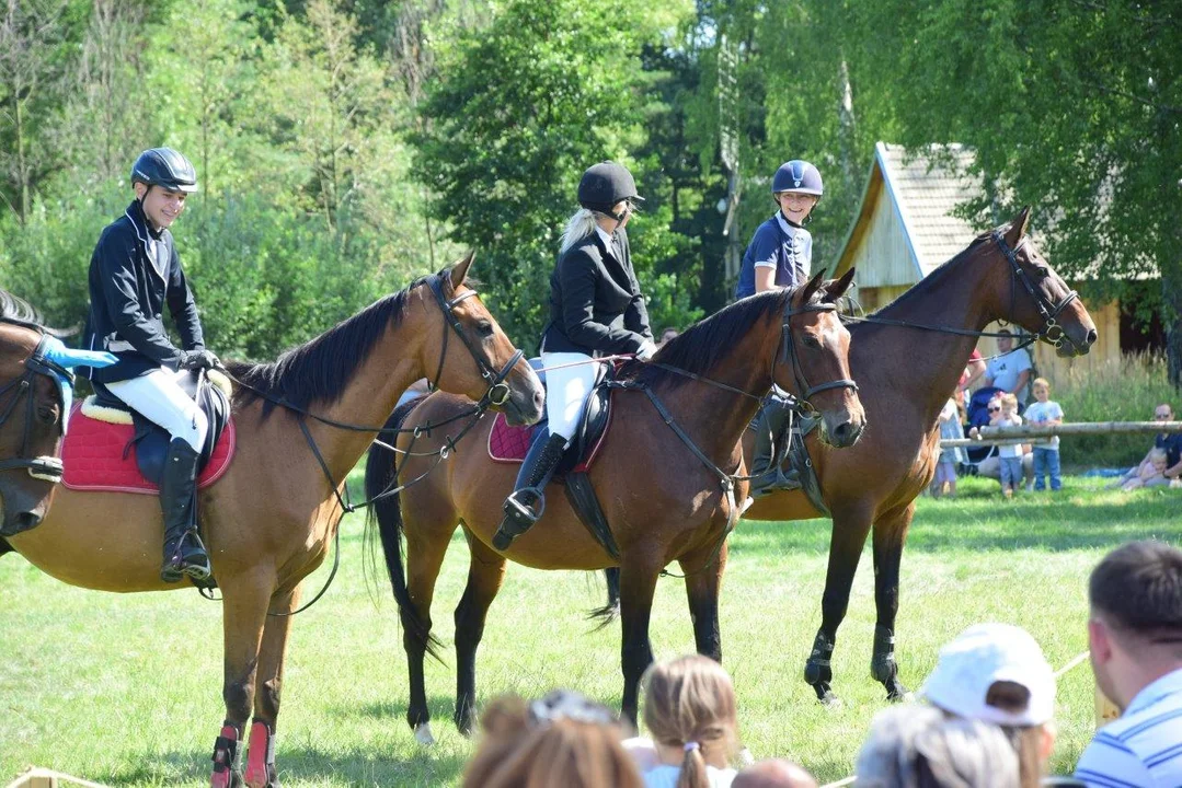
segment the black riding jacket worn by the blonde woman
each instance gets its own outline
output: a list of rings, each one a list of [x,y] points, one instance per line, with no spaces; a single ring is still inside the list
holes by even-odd
[[[628,233],[616,230],[621,260],[599,233],[567,249],[550,275],[550,324],[541,347],[547,353],[606,356],[635,353],[652,339],[649,313],[632,271]]]

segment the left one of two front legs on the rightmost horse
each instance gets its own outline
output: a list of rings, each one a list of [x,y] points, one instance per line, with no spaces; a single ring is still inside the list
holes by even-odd
[[[833,680],[831,659],[833,645],[837,642],[837,627],[842,625],[845,611],[850,606],[853,574],[858,571],[862,546],[865,545],[869,533],[869,513],[833,513],[833,530],[829,542],[829,569],[825,573],[825,593],[820,601],[820,629],[813,640],[812,652],[805,662],[805,680],[812,685],[813,691],[817,692],[817,699],[824,705],[840,704],[830,684]]]

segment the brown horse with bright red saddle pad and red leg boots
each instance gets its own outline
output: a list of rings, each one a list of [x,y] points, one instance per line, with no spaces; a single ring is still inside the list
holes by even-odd
[[[300,580],[324,560],[342,515],[339,481],[407,386],[502,403],[514,423],[541,416],[537,375],[465,287],[472,255],[382,299],[274,364],[232,365],[238,456],[200,497],[223,595],[226,724],[215,786],[240,784],[236,754],[254,714],[245,780],[273,786],[284,652]],[[457,334],[456,341],[448,338]],[[453,338],[456,339],[456,338]],[[277,406],[281,400],[282,405]],[[304,417],[301,411],[314,417]],[[329,423],[329,422],[332,423]],[[355,429],[340,429],[361,422]],[[305,432],[306,430],[306,432]],[[11,538],[32,564],[76,586],[167,591],[155,496],[59,489],[37,528]]]

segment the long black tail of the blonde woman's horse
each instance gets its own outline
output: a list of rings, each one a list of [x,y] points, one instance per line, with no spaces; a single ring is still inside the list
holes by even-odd
[[[390,430],[387,439],[394,443],[398,430],[405,422],[410,411],[421,402],[411,399],[396,408],[390,418],[385,422],[385,429]],[[390,588],[394,591],[394,600],[398,605],[398,613],[403,626],[407,626],[411,634],[422,639],[427,646],[427,653],[439,662],[443,662],[440,649],[443,644],[427,627],[420,618],[414,604],[410,601],[410,592],[407,590],[407,571],[402,560],[402,495],[382,495],[392,486],[398,476],[398,457],[389,457],[390,450],[375,443],[370,447],[365,457],[365,497],[372,500],[369,508],[366,528],[376,521],[378,535],[382,538],[382,552],[385,555],[385,568],[390,574]],[[377,500],[375,500],[377,499]]]

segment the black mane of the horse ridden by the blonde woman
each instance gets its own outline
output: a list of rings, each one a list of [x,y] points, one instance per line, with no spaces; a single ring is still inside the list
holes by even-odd
[[[740,299],[667,341],[652,360],[694,375],[706,375],[719,362],[734,353],[735,345],[747,336],[753,325],[771,315],[778,318],[784,314],[795,292],[795,288],[773,288]],[[818,288],[811,302],[819,302],[821,295],[824,291]],[[642,362],[628,362],[621,370],[621,376],[648,385],[678,386],[690,380],[684,375]]]

